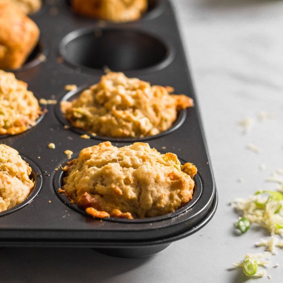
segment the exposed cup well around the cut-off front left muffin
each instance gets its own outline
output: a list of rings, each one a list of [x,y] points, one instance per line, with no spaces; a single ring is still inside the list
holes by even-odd
[[[12,208],[9,208],[5,211],[2,211],[0,213],[0,217],[8,215],[10,213],[13,213],[19,209],[21,209],[22,207],[26,206],[27,204],[29,204],[34,198],[37,197],[41,186],[42,186],[42,174],[39,170],[39,168],[37,167],[36,164],[34,164],[31,160],[29,160],[29,158],[23,156],[21,154],[21,157],[23,158],[24,161],[26,161],[28,163],[28,165],[31,167],[32,171],[30,174],[30,179],[33,181],[34,183],[34,187],[32,189],[32,191],[30,192],[29,196],[20,204],[15,205]]]

